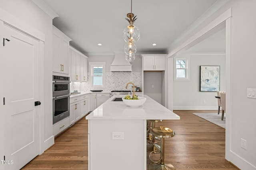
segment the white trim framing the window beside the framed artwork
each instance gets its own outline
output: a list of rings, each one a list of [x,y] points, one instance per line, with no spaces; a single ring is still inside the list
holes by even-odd
[[[177,60],[185,60],[186,61],[186,77],[185,78],[177,78],[177,68],[176,68],[176,61]],[[189,81],[190,80],[190,57],[178,57],[174,58],[174,81]]]

